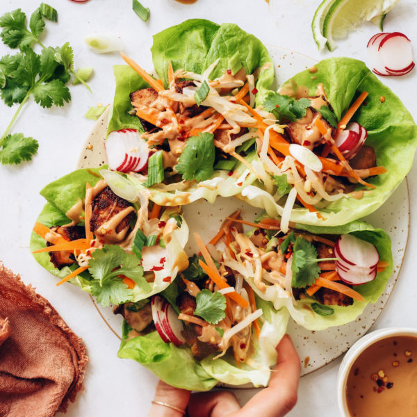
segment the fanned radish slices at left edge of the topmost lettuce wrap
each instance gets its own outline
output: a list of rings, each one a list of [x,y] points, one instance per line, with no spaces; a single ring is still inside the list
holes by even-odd
[[[149,158],[147,142],[135,129],[121,129],[108,135],[106,142],[108,167],[113,171],[139,172]]]

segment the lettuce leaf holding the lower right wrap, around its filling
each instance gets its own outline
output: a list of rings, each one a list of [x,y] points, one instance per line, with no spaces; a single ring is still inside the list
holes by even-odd
[[[331,305],[333,313],[329,315],[320,315],[320,313],[311,308],[311,304],[317,304],[317,300],[312,297],[295,300],[293,294],[290,294],[285,288],[275,285],[268,286],[265,292],[260,291],[255,284],[254,275],[245,274],[246,281],[256,295],[262,297],[263,300],[272,302],[276,309],[286,307],[293,320],[309,330],[323,330],[332,326],[344,325],[355,320],[363,312],[367,304],[377,302],[384,292],[386,283],[389,277],[391,277],[393,270],[391,239],[386,231],[375,229],[367,222],[358,220],[338,227],[321,227],[297,223],[294,229],[320,235],[324,238],[326,238],[326,235],[329,238],[334,238],[341,234],[352,234],[361,240],[366,240],[375,245],[379,253],[379,259],[385,261],[388,266],[382,272],[377,272],[373,281],[352,287],[354,291],[363,297],[363,301],[353,300],[353,304],[350,306]],[[227,263],[227,265],[232,267],[232,263]]]

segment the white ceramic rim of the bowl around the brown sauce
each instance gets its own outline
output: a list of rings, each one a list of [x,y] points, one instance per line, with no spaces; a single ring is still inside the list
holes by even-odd
[[[354,361],[357,360],[359,355],[367,347],[373,345],[373,343],[392,336],[411,336],[417,338],[417,329],[412,329],[411,327],[389,327],[388,329],[375,330],[375,332],[370,332],[360,338],[345,354],[337,376],[337,401],[341,417],[351,417],[347,409],[346,382]]]

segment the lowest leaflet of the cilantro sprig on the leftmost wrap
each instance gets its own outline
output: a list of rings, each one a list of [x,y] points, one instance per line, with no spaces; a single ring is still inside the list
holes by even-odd
[[[97,302],[104,307],[110,304],[123,304],[133,296],[133,292],[119,277],[106,277],[101,282],[93,279],[90,286],[91,295],[94,295]]]

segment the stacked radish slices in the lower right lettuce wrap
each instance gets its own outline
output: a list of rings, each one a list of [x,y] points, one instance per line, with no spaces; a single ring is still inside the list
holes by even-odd
[[[336,272],[346,284],[361,285],[377,277],[379,253],[372,243],[353,235],[340,236],[334,245]]]

